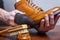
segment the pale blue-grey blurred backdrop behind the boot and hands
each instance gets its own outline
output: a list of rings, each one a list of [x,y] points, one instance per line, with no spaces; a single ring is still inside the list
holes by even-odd
[[[15,10],[14,4],[17,0],[3,0],[4,2],[4,9],[7,11]],[[53,7],[60,6],[60,0],[31,0],[34,4],[38,7],[42,8],[44,11],[47,11]],[[60,25],[60,19],[57,23]]]

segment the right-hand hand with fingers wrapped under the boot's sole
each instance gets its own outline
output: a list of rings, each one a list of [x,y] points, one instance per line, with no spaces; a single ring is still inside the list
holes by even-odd
[[[51,29],[54,29],[57,20],[59,19],[60,14],[56,16],[54,19],[54,14],[51,13],[50,15],[45,15],[45,18],[41,20],[40,27],[38,28],[38,31],[40,32],[48,32]]]

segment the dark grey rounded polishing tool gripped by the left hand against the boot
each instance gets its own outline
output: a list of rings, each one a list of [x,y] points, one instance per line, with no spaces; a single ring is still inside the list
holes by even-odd
[[[32,19],[30,19],[26,15],[20,14],[20,13],[16,13],[14,22],[17,24],[28,24],[30,26],[34,25],[34,21]]]

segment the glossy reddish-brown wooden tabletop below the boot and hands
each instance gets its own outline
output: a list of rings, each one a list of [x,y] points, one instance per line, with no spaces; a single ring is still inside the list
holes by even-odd
[[[32,40],[60,40],[60,26],[56,26],[53,30],[47,32],[45,35],[31,35]],[[8,38],[0,37],[0,40],[10,40]]]

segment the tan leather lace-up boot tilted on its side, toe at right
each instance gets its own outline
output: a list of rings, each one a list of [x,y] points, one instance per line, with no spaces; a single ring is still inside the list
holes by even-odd
[[[42,11],[41,8],[37,7],[35,4],[30,2],[30,0],[20,0],[15,4],[15,8],[17,10],[23,11],[26,13],[28,17],[30,17],[35,22],[41,20],[45,14],[50,14],[52,12],[55,12],[57,10],[60,10],[59,7],[54,7],[46,12]]]

